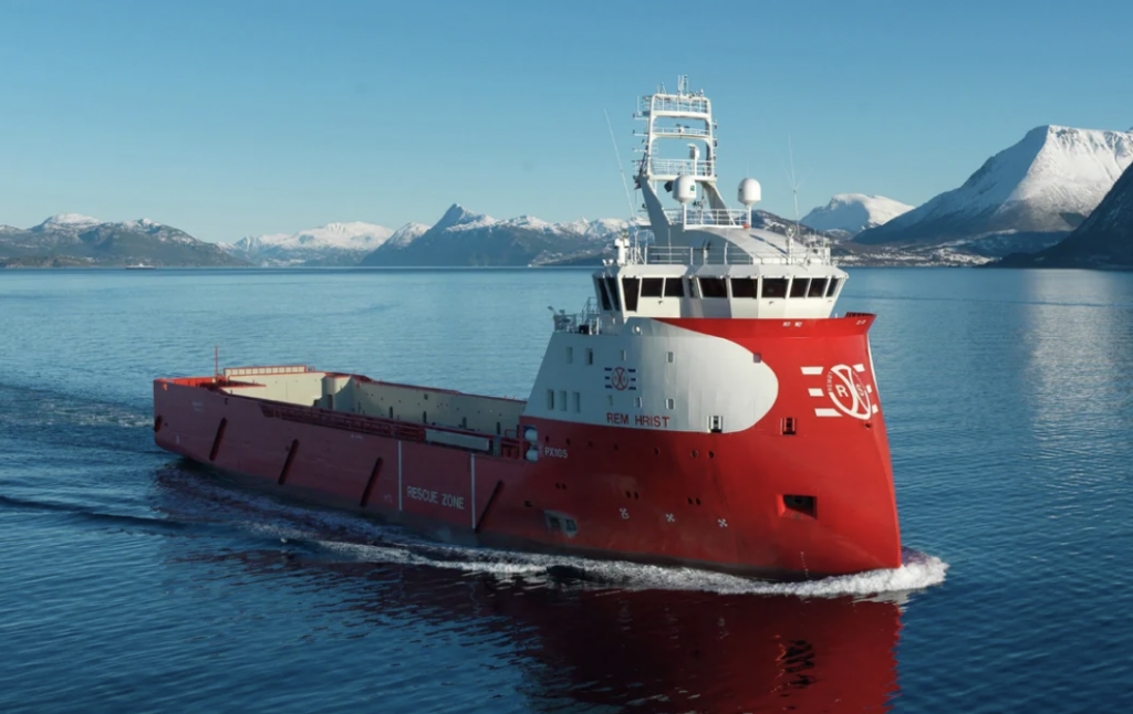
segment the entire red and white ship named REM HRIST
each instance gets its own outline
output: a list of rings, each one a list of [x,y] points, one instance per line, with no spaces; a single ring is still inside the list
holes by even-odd
[[[716,186],[710,101],[639,98],[646,207],[530,398],[305,365],[154,381],[157,446],[449,542],[807,578],[901,566],[868,332],[829,249]],[[687,144],[688,154],[662,148]],[[678,206],[666,208],[665,193]]]

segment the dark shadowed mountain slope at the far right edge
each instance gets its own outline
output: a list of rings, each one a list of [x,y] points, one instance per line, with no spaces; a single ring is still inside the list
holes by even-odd
[[[1066,240],[1031,256],[1010,256],[1004,265],[1133,268],[1133,165]]]

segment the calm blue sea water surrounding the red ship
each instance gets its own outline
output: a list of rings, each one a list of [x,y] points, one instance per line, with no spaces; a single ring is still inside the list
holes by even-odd
[[[854,269],[910,556],[769,585],[443,548],[153,446],[151,380],[523,395],[579,270],[0,273],[0,711],[1124,712],[1133,275]]]

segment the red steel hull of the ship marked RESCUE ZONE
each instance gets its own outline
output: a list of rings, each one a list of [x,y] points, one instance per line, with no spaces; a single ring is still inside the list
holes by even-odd
[[[632,414],[610,416],[629,427],[523,416],[537,444],[474,450],[427,441],[420,423],[181,379],[154,382],[155,437],[280,493],[445,540],[776,577],[893,568],[901,541],[871,321],[674,320],[751,349],[778,376],[772,411],[730,433],[668,431]],[[535,462],[523,457],[531,450]]]

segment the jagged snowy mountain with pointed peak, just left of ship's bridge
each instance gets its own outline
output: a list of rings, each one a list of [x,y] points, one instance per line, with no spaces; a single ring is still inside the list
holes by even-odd
[[[453,204],[432,227],[409,224],[361,265],[475,266],[598,263],[629,223],[616,218],[550,223],[535,216],[504,221]],[[400,235],[399,235],[400,234]]]

